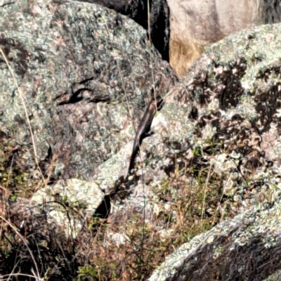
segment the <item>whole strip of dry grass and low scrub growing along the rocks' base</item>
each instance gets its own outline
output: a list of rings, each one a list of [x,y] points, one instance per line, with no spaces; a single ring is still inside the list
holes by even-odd
[[[187,172],[195,181],[186,182]],[[0,273],[4,280],[34,280],[32,268],[37,280],[145,280],[167,254],[220,221],[221,209],[209,211],[223,205],[217,182],[209,167],[176,164],[155,187],[159,210],[150,220],[120,210],[85,221],[75,240],[47,221],[44,206],[27,208],[27,200],[11,200],[13,188],[1,188]]]

